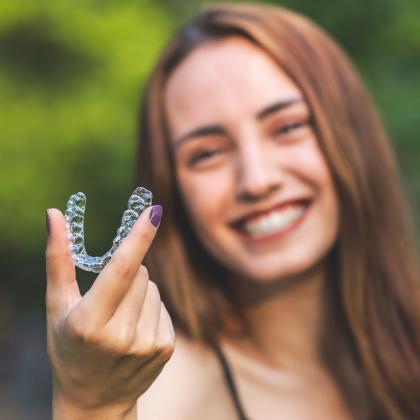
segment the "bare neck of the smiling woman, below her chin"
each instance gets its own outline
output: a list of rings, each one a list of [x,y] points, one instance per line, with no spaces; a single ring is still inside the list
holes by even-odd
[[[325,276],[317,267],[299,278],[236,284],[249,328],[241,348],[281,368],[319,367]]]

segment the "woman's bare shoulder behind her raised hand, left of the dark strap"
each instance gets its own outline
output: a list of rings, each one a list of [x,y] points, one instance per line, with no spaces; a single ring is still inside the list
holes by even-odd
[[[223,400],[221,371],[213,351],[180,333],[175,350],[152,386],[138,400],[139,420],[204,418],[206,410]],[[217,404],[216,404],[217,405]]]

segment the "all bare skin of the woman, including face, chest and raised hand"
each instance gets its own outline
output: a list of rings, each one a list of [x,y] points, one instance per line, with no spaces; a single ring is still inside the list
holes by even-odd
[[[248,337],[220,337],[247,415],[350,419],[317,352],[323,261],[336,240],[339,215],[302,92],[267,55],[231,38],[192,52],[171,75],[165,94],[186,208],[207,251],[241,290],[251,326]],[[285,101],[293,103],[267,112]],[[208,134],[214,126],[216,132]],[[203,127],[206,135],[190,136]],[[256,243],[232,228],[238,218],[291,199],[310,200],[310,206],[281,237]],[[54,210],[50,218],[54,419],[132,419],[137,411],[141,420],[236,420],[220,364],[204,345],[177,333],[161,372],[174,335],[147,271],[135,269],[155,233],[146,212],[83,297],[62,215]],[[130,325],[135,328],[127,334]]]

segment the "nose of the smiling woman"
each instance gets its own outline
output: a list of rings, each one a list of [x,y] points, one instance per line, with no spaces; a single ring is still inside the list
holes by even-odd
[[[236,195],[242,201],[265,198],[282,184],[281,169],[261,148],[243,151],[238,158]]]

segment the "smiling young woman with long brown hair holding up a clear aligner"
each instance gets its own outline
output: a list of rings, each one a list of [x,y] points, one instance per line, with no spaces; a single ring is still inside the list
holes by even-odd
[[[140,125],[138,184],[165,209],[150,249],[160,206],[81,297],[48,211],[54,418],[420,418],[411,228],[335,43],[284,9],[208,8]]]

